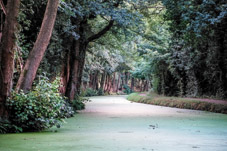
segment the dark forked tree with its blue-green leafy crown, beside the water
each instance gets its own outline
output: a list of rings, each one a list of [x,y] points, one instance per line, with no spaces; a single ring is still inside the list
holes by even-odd
[[[139,15],[127,8],[128,1],[126,0],[73,1],[72,5],[68,6],[74,5],[82,10],[77,13],[78,11],[75,9],[73,11],[75,15],[71,18],[71,22],[77,27],[78,32],[76,34],[78,37],[72,38],[73,45],[67,51],[69,55],[66,55],[70,57],[65,59],[67,64],[62,74],[65,89],[63,92],[69,100],[73,100],[75,93],[80,93],[85,56],[89,44],[106,35],[113,27],[124,28],[135,25],[136,22],[139,23]],[[95,22],[91,24],[92,21]]]

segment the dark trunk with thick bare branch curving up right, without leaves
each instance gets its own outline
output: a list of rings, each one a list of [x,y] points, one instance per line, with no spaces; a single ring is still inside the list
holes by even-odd
[[[66,85],[66,93],[65,95],[69,98],[69,100],[73,100],[75,94],[80,93],[80,86],[82,82],[82,75],[83,75],[83,69],[84,69],[84,63],[85,63],[85,56],[87,51],[87,46],[91,41],[94,41],[95,39],[100,38],[103,36],[107,31],[110,30],[110,28],[113,26],[113,20],[109,21],[109,23],[100,30],[97,34],[94,34],[93,36],[86,38],[84,37],[84,27],[86,26],[87,21],[81,22],[79,25],[77,25],[78,32],[80,35],[80,38],[78,40],[73,39],[72,42],[72,49],[69,53],[71,55],[68,57],[69,61],[67,61],[68,66],[70,66],[70,70],[68,70],[68,73],[65,73],[66,77],[68,78],[68,81]],[[67,66],[66,70],[68,69]]]

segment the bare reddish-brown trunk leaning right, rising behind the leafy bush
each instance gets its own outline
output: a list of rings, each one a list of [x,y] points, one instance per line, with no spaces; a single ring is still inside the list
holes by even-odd
[[[16,86],[17,90],[22,89],[24,92],[27,92],[32,87],[32,82],[35,79],[36,72],[52,35],[58,4],[59,0],[48,0],[39,35],[32,51],[29,53],[24,69],[20,74]]]

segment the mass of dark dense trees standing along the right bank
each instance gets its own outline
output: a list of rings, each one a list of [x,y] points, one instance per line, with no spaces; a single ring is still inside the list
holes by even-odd
[[[164,49],[156,43],[159,49],[149,53],[153,88],[165,95],[226,98],[226,1],[162,2],[169,39]]]

